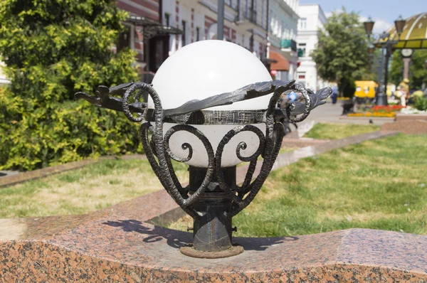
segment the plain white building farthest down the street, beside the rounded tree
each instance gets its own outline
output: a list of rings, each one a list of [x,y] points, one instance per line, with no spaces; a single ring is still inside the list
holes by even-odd
[[[317,76],[316,63],[310,57],[310,53],[317,48],[319,29],[323,28],[327,19],[318,4],[300,5],[298,13],[300,21],[298,22],[297,43],[300,66],[297,71],[297,82],[304,83],[312,90],[320,90],[329,84]]]

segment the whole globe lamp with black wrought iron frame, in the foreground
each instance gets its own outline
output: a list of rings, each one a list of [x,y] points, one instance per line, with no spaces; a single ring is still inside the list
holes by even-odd
[[[194,219],[193,244],[181,247],[184,255],[238,255],[243,247],[233,245],[231,219],[253,201],[273,167],[284,135],[278,121],[285,115],[302,121],[332,90],[313,93],[293,80],[271,81],[255,55],[226,41],[181,48],[164,61],[152,83],[100,86],[95,97],[84,92],[75,97],[142,122],[142,146],[154,173]],[[277,109],[280,96],[292,91],[301,94],[300,101]],[[139,102],[144,94],[149,95],[147,103]],[[189,186],[181,186],[172,160],[189,165]],[[238,186],[236,166],[241,162],[249,166]]]

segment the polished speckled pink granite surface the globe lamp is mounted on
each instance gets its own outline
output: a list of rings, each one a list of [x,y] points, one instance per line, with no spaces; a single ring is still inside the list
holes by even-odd
[[[19,233],[1,236],[0,282],[427,282],[426,236],[235,237],[243,254],[196,259],[179,252],[190,233],[146,223],[174,208],[159,191],[90,215],[1,223]]]

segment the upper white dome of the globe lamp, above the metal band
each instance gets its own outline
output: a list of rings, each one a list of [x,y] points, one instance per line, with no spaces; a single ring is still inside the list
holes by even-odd
[[[157,70],[152,81],[164,110],[189,100],[231,92],[271,76],[253,53],[228,41],[198,41],[176,51]],[[209,110],[264,110],[271,95]],[[149,108],[154,108],[149,99]]]

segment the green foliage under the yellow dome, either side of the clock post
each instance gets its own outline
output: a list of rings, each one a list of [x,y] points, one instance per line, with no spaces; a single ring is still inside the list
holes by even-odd
[[[421,89],[427,84],[427,69],[424,62],[427,60],[427,50],[413,50],[411,65],[409,67],[409,83],[411,89]],[[390,79],[394,84],[404,78],[404,59],[401,50],[395,50],[391,61]]]

